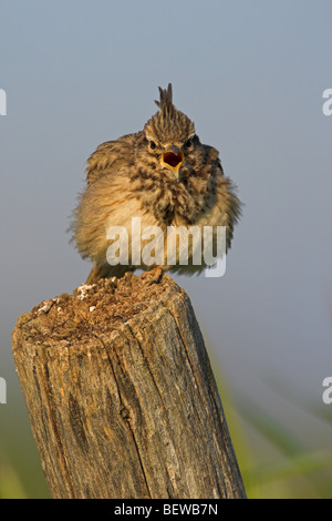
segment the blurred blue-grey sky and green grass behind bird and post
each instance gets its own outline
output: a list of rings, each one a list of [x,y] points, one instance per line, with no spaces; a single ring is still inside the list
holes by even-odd
[[[48,497],[11,331],[85,280],[66,228],[86,159],[142,130],[168,82],[246,205],[225,276],[175,278],[247,493],[332,497],[331,19],[329,0],[1,1],[1,498]]]

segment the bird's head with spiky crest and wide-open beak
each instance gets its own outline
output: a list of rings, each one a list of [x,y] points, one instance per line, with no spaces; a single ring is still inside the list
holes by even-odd
[[[159,86],[158,112],[144,126],[146,153],[170,180],[179,181],[184,165],[193,165],[201,145],[189,118],[173,104],[172,84]],[[200,156],[200,153],[199,153]]]

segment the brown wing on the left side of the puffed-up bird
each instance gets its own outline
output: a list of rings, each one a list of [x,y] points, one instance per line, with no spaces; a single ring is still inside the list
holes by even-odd
[[[116,141],[102,143],[87,160],[86,180],[91,185],[101,176],[116,173],[133,164],[133,149],[137,134],[127,134]]]

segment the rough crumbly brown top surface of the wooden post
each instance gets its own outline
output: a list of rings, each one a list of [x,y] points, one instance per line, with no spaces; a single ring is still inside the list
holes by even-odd
[[[76,338],[83,338],[93,331],[116,330],[142,311],[153,313],[158,306],[168,307],[169,300],[179,296],[188,298],[158,268],[139,276],[127,273],[121,279],[101,279],[92,286],[83,284],[72,295],[64,293],[43,300],[30,313],[24,313],[17,327],[25,328],[29,324],[29,338],[33,341],[44,341],[50,335],[53,340],[65,339],[74,330]]]

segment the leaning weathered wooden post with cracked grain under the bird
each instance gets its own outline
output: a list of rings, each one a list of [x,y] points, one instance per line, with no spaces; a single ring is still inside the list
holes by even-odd
[[[54,498],[243,498],[186,293],[101,280],[19,318],[14,362]]]

